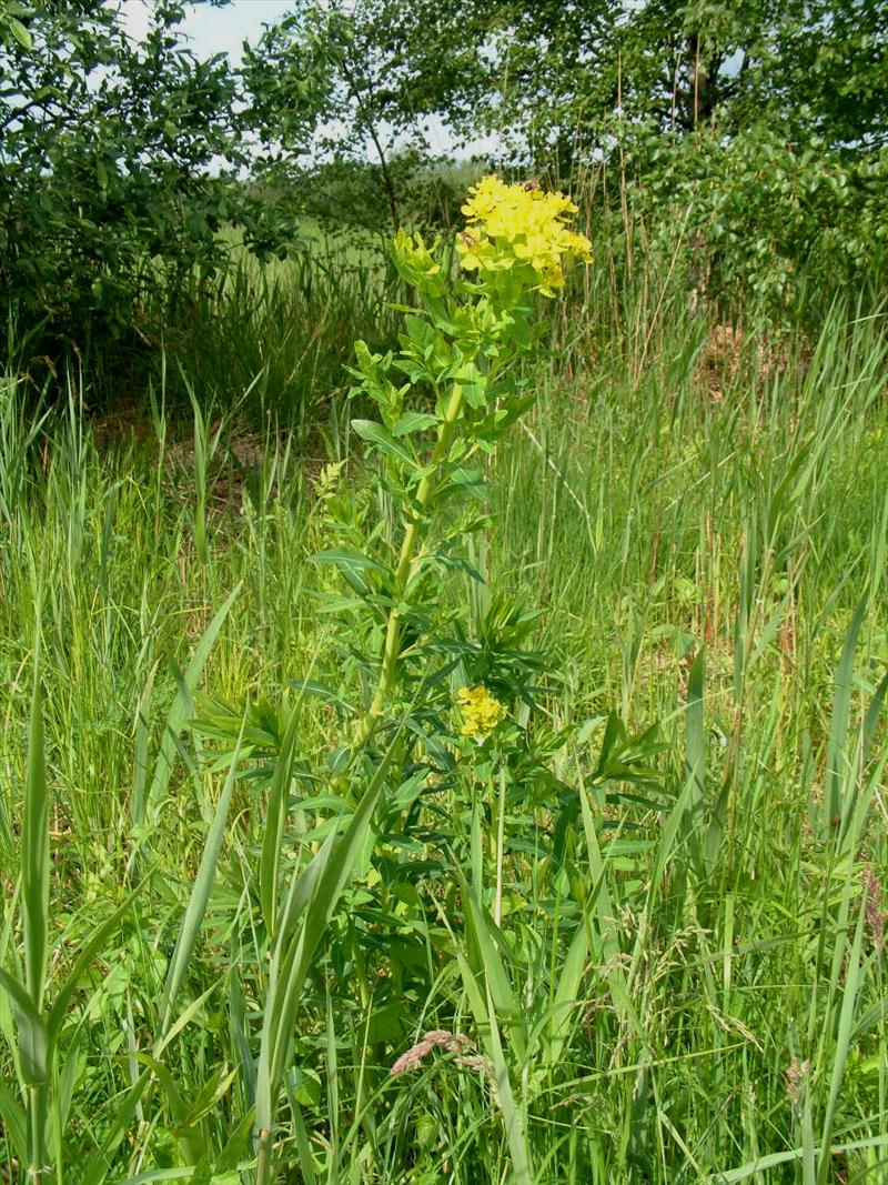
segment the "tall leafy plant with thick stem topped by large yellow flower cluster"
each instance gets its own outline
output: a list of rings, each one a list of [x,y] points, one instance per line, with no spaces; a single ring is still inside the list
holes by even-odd
[[[379,666],[374,692],[354,729],[343,766],[367,745],[408,694],[406,665],[427,659],[431,640],[427,592],[435,572],[458,565],[459,545],[478,523],[477,510],[445,518],[438,511],[462,492],[482,486],[472,468],[533,402],[514,363],[538,337],[533,294],[553,297],[568,270],[591,261],[592,244],[571,222],[577,206],[536,182],[507,184],[485,177],[462,207],[465,228],[453,251],[400,231],[394,263],[419,305],[405,309],[395,356],[372,354],[356,344],[356,390],[373,401],[379,419],[356,419],[354,430],[384,462],[397,508],[397,550],[391,544],[362,556],[362,596],[378,622]],[[355,540],[356,542],[356,540]],[[388,549],[388,550],[387,550]],[[317,557],[335,563],[356,589],[355,556]],[[425,636],[424,636],[425,635]]]

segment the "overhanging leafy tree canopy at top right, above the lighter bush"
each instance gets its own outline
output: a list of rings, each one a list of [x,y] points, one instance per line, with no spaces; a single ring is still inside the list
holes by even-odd
[[[882,0],[363,0],[395,89],[515,154],[607,150],[616,124],[888,136]],[[405,63],[407,65],[405,66]],[[517,133],[517,134],[515,134]]]

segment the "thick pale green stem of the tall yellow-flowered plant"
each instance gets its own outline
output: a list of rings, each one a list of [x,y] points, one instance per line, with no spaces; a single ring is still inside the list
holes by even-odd
[[[353,755],[359,752],[375,732],[377,726],[382,718],[386,700],[394,688],[398,675],[401,638],[401,614],[398,604],[410,583],[417,547],[426,533],[423,524],[423,511],[435,491],[440,475],[440,468],[450,453],[450,446],[453,442],[453,433],[462,410],[463,389],[457,384],[453,387],[448,402],[444,419],[438,428],[438,440],[435,442],[435,448],[429,457],[429,468],[431,472],[423,478],[417,487],[417,510],[412,521],[407,525],[407,529],[404,532],[400,557],[398,559],[398,566],[394,571],[394,604],[388,614],[388,622],[386,626],[386,639],[382,648],[382,666],[379,672],[379,683],[377,684],[377,691],[373,696],[373,700],[367,711],[363,713],[363,717],[358,725],[358,730],[355,731],[354,741],[352,743]]]

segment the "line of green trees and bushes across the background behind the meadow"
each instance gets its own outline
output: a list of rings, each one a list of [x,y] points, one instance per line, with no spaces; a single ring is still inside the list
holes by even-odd
[[[259,261],[298,251],[307,216],[446,228],[490,168],[570,187],[625,269],[662,251],[707,300],[779,318],[812,281],[881,274],[881,0],[327,0],[238,69],[194,55],[184,7],[155,0],[135,44],[103,0],[0,0],[19,347],[83,359],[176,324],[227,267],[226,226]],[[461,164],[433,156],[430,121]],[[494,159],[459,155],[491,135]]]

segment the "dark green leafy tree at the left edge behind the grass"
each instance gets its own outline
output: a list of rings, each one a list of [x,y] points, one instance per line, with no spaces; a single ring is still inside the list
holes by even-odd
[[[239,81],[182,44],[182,15],[156,0],[136,45],[103,0],[2,0],[0,295],[20,328],[43,325],[44,348],[120,334],[149,297],[174,309],[224,264],[226,223],[279,245],[237,180]]]

